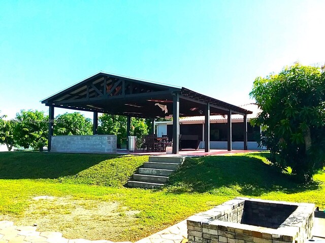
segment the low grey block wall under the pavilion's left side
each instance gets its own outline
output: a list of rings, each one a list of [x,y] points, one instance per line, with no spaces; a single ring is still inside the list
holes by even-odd
[[[115,135],[52,136],[51,152],[115,153]]]

